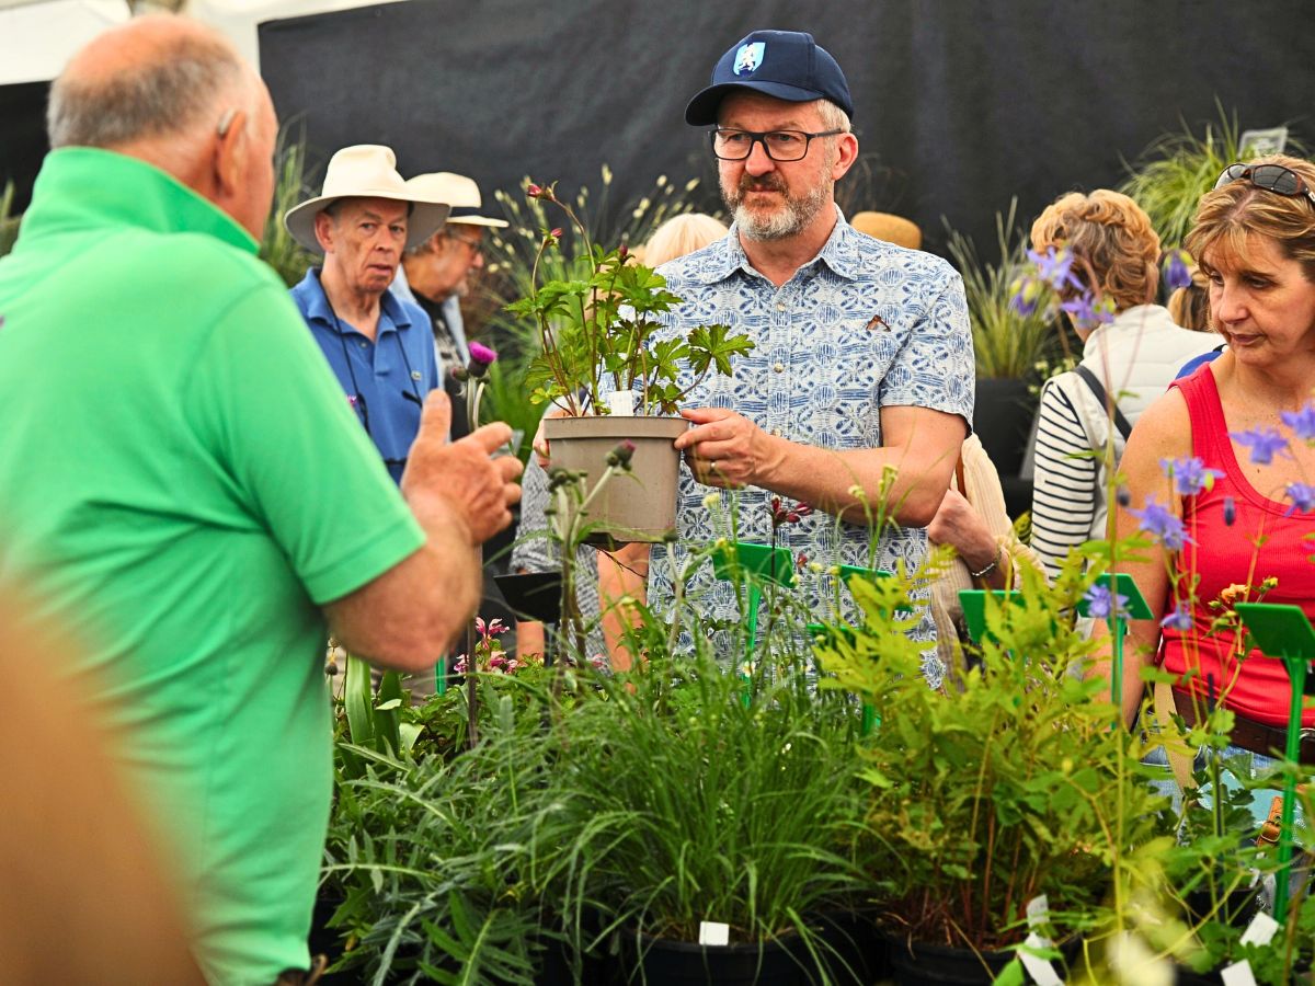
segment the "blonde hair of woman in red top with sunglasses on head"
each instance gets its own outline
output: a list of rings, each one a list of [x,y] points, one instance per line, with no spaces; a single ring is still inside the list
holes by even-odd
[[[1315,164],[1308,160],[1270,154],[1249,162],[1256,164],[1279,164],[1295,171],[1315,191]],[[1247,180],[1220,185],[1202,197],[1184,246],[1208,270],[1207,254],[1218,256],[1218,250],[1245,259],[1252,235],[1273,239],[1285,258],[1302,266],[1306,280],[1315,283],[1315,202],[1304,193],[1268,192]]]

